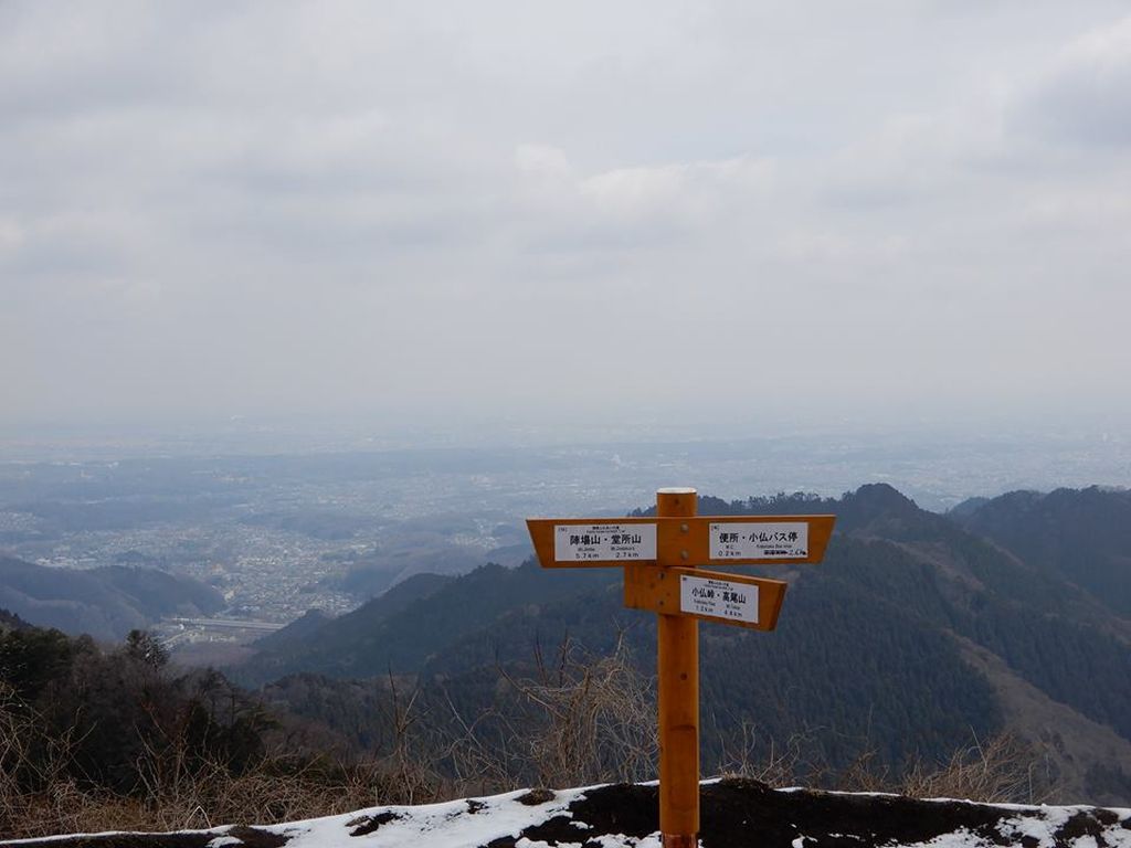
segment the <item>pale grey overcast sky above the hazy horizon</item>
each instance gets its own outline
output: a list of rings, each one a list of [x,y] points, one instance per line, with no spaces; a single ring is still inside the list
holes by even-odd
[[[0,0],[0,417],[1126,424],[1129,15]]]

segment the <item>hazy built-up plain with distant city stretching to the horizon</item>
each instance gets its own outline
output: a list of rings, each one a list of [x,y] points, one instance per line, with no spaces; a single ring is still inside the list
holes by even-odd
[[[249,641],[311,608],[339,615],[420,571],[517,564],[529,555],[526,517],[621,514],[665,485],[744,500],[884,482],[946,511],[1017,488],[1131,483],[1131,440],[1110,433],[345,448],[219,455],[150,444],[111,458],[106,447],[84,456],[69,443],[68,458],[58,449],[38,459],[11,448],[0,453],[0,551],[209,583],[227,603],[215,622],[155,625],[182,649]]]

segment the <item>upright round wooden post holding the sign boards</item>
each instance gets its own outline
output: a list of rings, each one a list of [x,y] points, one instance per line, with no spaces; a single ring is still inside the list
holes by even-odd
[[[661,518],[691,518],[693,488],[656,492]],[[661,568],[692,565],[659,562]],[[676,611],[677,612],[677,611]],[[699,622],[690,616],[657,617],[659,701],[659,830],[664,848],[696,848],[699,833]]]

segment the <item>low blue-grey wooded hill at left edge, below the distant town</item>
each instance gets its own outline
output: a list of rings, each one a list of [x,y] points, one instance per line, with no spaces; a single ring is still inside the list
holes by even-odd
[[[122,639],[170,615],[207,615],[224,597],[198,580],[112,565],[78,571],[0,554],[0,609],[71,635]]]

